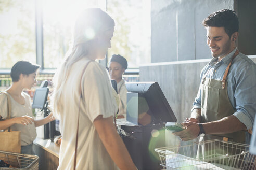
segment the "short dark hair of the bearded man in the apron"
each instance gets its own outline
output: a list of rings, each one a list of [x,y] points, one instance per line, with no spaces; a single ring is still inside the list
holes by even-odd
[[[224,27],[229,37],[238,32],[239,22],[236,12],[230,9],[222,9],[212,13],[202,21],[203,26]]]

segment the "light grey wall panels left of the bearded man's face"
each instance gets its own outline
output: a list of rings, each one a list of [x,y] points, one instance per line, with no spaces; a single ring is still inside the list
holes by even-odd
[[[201,21],[233,0],[151,0],[151,62],[211,57]]]

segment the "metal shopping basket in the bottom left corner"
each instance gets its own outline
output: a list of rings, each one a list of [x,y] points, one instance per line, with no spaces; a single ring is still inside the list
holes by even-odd
[[[0,167],[0,169],[39,169],[39,157],[36,155],[0,151],[0,160],[11,165],[11,167]]]

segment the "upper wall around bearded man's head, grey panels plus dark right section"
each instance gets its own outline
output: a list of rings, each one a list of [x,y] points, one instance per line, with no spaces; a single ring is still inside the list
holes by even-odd
[[[151,62],[211,58],[201,21],[221,9],[238,12],[238,48],[256,54],[255,0],[151,0]]]

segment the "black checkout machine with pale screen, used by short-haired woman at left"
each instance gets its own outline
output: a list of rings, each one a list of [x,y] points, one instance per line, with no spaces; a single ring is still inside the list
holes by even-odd
[[[48,109],[48,93],[49,89],[47,88],[48,82],[42,82],[40,88],[37,88],[34,93],[32,108],[33,109],[41,109],[44,113],[44,117],[48,116],[50,110]],[[59,131],[56,131],[56,122],[58,121],[51,121],[44,125],[44,139],[50,139],[51,141],[54,140],[55,135],[60,135]]]

